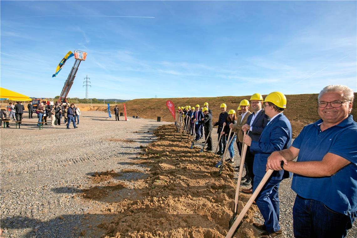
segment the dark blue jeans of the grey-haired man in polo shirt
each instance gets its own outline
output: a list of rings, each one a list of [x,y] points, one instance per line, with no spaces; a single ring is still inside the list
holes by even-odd
[[[320,201],[296,196],[293,206],[295,238],[343,238],[352,227],[353,219],[332,211]]]

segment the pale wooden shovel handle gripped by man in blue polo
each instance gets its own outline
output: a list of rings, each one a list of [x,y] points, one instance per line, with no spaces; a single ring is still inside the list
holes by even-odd
[[[238,218],[233,222],[231,228],[229,229],[226,238],[231,238],[233,236],[233,234],[236,232],[236,229],[239,227],[243,217],[245,216],[245,214],[248,212],[248,209],[250,208],[250,206],[252,206],[252,203],[254,202],[254,200],[258,197],[258,194],[260,193],[260,191],[262,190],[263,186],[265,185],[265,183],[268,181],[268,179],[270,178],[271,174],[274,171],[272,169],[269,169],[262,181],[259,183],[258,187],[255,189],[254,193],[252,194],[252,196],[249,198],[248,202],[246,203],[246,206],[243,207],[241,213],[239,214]]]

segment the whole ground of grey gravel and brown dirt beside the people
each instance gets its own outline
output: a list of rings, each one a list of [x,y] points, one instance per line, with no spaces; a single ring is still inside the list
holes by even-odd
[[[191,150],[172,122],[106,120],[82,107],[76,130],[38,130],[26,116],[21,129],[0,130],[3,237],[225,237],[238,153],[217,176],[218,156],[200,153],[203,143]],[[284,237],[293,237],[290,184],[279,190]],[[240,193],[238,213],[249,197]],[[252,222],[262,222],[255,205],[235,237],[258,237]]]

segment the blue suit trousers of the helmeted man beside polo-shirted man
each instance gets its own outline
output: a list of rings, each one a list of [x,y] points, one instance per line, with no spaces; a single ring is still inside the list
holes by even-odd
[[[253,192],[258,187],[262,177],[254,176]],[[268,180],[258,197],[255,199],[257,206],[264,218],[264,225],[266,226],[267,232],[277,232],[280,230],[279,216],[279,186],[281,180],[270,179]]]

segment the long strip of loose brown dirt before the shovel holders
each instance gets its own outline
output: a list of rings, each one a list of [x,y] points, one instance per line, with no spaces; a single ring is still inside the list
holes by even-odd
[[[175,128],[161,126],[154,132],[159,139],[143,148],[137,160],[147,166],[141,179],[113,181],[122,173],[138,171],[106,171],[90,178],[96,183],[100,177],[113,176],[83,193],[85,199],[106,201],[109,205],[102,212],[115,214],[111,222],[97,226],[105,233],[102,237],[225,237],[233,214],[234,169],[225,167],[218,177],[218,156],[200,153],[199,147],[190,150],[191,141]],[[117,186],[121,189],[114,189]],[[240,194],[238,211],[249,197]],[[257,211],[255,205],[250,208],[236,237],[258,236],[251,226]]]

